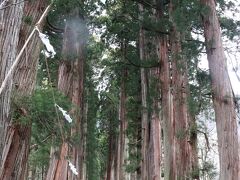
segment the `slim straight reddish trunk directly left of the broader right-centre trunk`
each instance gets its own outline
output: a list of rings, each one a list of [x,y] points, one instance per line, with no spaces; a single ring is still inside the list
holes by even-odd
[[[157,20],[164,15],[164,7],[161,0],[156,1]],[[157,55],[160,60],[160,84],[161,84],[161,114],[164,139],[164,179],[174,179],[176,165],[174,162],[174,131],[173,131],[173,96],[171,92],[171,73],[168,59],[168,38],[159,35],[156,40]]]

